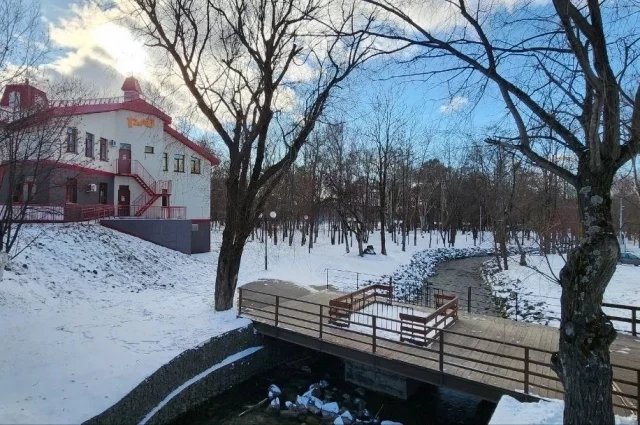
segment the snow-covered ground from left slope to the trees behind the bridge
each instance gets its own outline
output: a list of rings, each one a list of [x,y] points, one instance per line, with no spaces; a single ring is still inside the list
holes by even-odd
[[[24,231],[37,239],[0,281],[0,423],[82,422],[182,351],[248,324],[235,311],[213,309],[219,232],[211,253],[188,256],[96,224]],[[388,256],[362,258],[332,246],[324,233],[311,254],[299,240],[270,244],[264,271],[264,245],[249,242],[239,284],[274,278],[325,285],[327,268],[389,275],[428,247],[428,235],[418,246],[411,238],[406,252],[387,243]],[[379,252],[379,235],[369,244]],[[438,247],[435,237],[432,244]],[[457,244],[473,240],[459,235]],[[331,284],[348,289],[352,282]]]

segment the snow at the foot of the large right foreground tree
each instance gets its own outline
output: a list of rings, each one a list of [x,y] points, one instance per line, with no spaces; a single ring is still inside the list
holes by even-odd
[[[541,400],[521,403],[513,397],[502,396],[489,425],[558,425],[562,424],[564,402]],[[635,416],[616,416],[616,425],[636,425]]]

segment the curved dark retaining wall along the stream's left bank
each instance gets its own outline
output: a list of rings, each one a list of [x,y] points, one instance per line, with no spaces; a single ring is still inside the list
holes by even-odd
[[[136,424],[175,389],[227,357],[262,346],[255,353],[213,371],[184,388],[147,422],[166,424],[234,385],[277,364],[310,353],[294,345],[262,337],[253,327],[238,329],[185,351],[146,378],[118,403],[85,422],[87,425]],[[266,388],[265,388],[266,392]]]

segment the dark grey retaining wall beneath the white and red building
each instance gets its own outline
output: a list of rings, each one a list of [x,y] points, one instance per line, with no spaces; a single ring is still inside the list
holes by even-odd
[[[110,218],[100,224],[183,254],[211,250],[211,224],[208,221]]]

